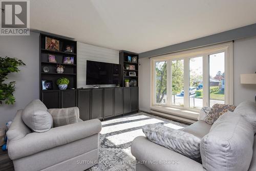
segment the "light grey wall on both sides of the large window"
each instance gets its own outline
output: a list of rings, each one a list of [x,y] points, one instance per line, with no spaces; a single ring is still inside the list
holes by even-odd
[[[139,59],[139,109],[150,111],[150,59]],[[256,37],[234,41],[233,45],[233,91],[234,104],[245,100],[254,101],[256,84],[241,84],[240,74],[256,72]]]

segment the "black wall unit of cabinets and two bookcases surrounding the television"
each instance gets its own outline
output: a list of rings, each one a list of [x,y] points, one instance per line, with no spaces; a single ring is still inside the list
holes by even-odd
[[[54,38],[60,42],[59,51],[50,51],[45,47],[46,37]],[[138,112],[139,110],[139,87],[138,87],[138,54],[128,51],[119,52],[119,63],[121,64],[121,84],[120,87],[105,88],[80,88],[77,89],[77,42],[66,38],[40,34],[39,48],[39,90],[40,99],[51,108],[79,108],[82,120],[90,119],[109,119],[116,116]],[[64,52],[67,45],[74,47],[74,53]],[[55,55],[56,63],[49,62],[49,54]],[[74,57],[73,64],[63,63],[63,57]],[[137,56],[137,62],[127,61],[127,56]],[[64,72],[56,72],[56,65],[65,66]],[[134,65],[135,70],[124,69],[125,65]],[[49,67],[50,71],[45,73],[44,67]],[[127,75],[123,75],[127,72]],[[129,76],[129,72],[136,72],[136,76]],[[59,90],[56,81],[60,77],[70,80],[67,90]],[[124,79],[135,79],[136,87],[124,87]],[[53,82],[53,90],[42,90],[41,80]],[[73,88],[73,89],[71,89]]]

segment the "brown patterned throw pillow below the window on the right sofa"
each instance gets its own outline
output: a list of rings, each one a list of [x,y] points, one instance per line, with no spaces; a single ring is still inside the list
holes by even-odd
[[[236,109],[236,106],[234,105],[227,105],[227,104],[214,104],[208,113],[208,115],[205,117],[205,121],[209,124],[213,124],[221,115],[224,113],[230,111],[233,112],[234,109]]]

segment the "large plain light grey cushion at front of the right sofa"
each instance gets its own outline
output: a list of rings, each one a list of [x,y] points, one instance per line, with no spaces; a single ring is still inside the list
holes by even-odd
[[[253,138],[251,125],[241,115],[225,113],[200,143],[203,167],[207,171],[248,170]]]

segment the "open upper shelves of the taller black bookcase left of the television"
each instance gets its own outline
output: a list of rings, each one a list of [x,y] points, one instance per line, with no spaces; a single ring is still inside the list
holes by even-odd
[[[59,51],[52,51],[46,49],[46,37],[54,38],[59,40]],[[73,47],[73,52],[65,52],[66,46]],[[48,35],[48,34],[40,34],[39,40],[40,52],[39,52],[39,89],[41,91],[41,81],[42,80],[50,80],[53,82],[53,90],[58,90],[58,86],[56,81],[60,77],[66,77],[69,79],[68,89],[77,88],[77,42],[74,40]],[[56,63],[49,62],[49,54],[54,55],[56,59]],[[68,64],[63,63],[64,57],[74,57],[74,63]],[[57,64],[64,66],[64,72],[62,74],[56,72]],[[50,71],[45,73],[43,68],[48,67]]]

